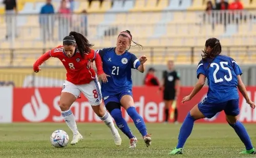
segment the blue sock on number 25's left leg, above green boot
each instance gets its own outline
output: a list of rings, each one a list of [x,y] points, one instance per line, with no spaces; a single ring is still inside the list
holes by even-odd
[[[178,138],[178,144],[176,148],[183,148],[187,138],[192,132],[193,126],[194,126],[195,119],[190,115],[190,112],[188,112],[184,122],[182,123],[180,127],[180,133]]]

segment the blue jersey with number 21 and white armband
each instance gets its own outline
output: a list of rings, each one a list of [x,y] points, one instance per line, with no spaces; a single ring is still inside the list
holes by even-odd
[[[101,84],[103,97],[115,95],[122,90],[132,91],[132,68],[137,69],[140,65],[137,57],[129,51],[117,55],[115,48],[103,48],[96,52],[102,59],[103,71],[111,76],[108,77],[108,83]]]

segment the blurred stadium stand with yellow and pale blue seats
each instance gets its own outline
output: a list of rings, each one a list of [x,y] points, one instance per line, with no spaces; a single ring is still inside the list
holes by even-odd
[[[14,66],[30,66],[34,59],[43,51],[42,48],[52,48],[61,44],[59,39],[42,40],[39,25],[40,8],[45,1],[17,0],[18,14],[16,17],[18,37],[6,40],[6,21],[4,7],[0,6],[0,48],[6,49],[1,53],[0,66],[12,63]],[[130,30],[134,40],[145,47],[143,54],[152,57],[151,63],[158,64],[166,62],[167,59],[177,60],[177,64],[191,64],[199,60],[201,49],[207,38],[217,37],[223,46],[228,47],[224,54],[231,51],[234,57],[240,62],[253,63],[256,59],[254,44],[256,41],[256,0],[241,1],[246,10],[234,13],[243,13],[246,20],[234,18],[226,22],[219,21],[222,14],[213,11],[208,15],[204,12],[206,0],[126,0],[112,1],[105,0],[100,5],[99,1],[93,1],[91,6],[87,1],[75,1],[74,14],[68,20],[68,31],[87,29],[87,37],[95,44],[95,47],[114,46],[116,36],[120,31]],[[229,1],[233,2],[233,1]],[[212,1],[214,3],[214,1]],[[60,0],[52,1],[57,13]],[[81,23],[85,15],[80,14],[87,11],[87,23]],[[227,11],[231,17],[233,13]],[[216,15],[212,18],[211,15]],[[62,15],[54,14],[54,37],[58,37],[60,19]],[[228,22],[227,22],[228,21]],[[224,24],[225,23],[225,24]],[[9,26],[8,26],[9,27]],[[12,26],[10,26],[12,27]],[[237,46],[232,48],[232,46]],[[192,48],[197,47],[197,48]],[[11,48],[15,56],[15,62],[10,62],[7,49]],[[25,49],[26,48],[26,49]],[[32,48],[30,50],[29,48]],[[239,49],[238,49],[239,48]],[[40,50],[40,54],[34,52]],[[139,55],[141,51],[132,49]],[[191,52],[194,54],[191,55]],[[37,53],[37,54],[35,54]],[[154,55],[153,55],[154,54]],[[164,56],[163,56],[164,54]],[[27,56],[28,55],[28,56]],[[4,62],[2,62],[4,61]],[[192,62],[191,62],[192,61]],[[50,60],[47,65],[58,65],[60,62]]]

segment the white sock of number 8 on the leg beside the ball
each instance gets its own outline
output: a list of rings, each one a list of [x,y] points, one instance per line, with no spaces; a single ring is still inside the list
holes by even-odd
[[[62,111],[61,115],[62,115],[63,119],[65,120],[65,122],[67,123],[67,125],[69,126],[69,128],[72,130],[73,135],[77,135],[78,129],[76,126],[76,119],[75,119],[75,116],[72,113],[72,111],[70,109],[67,111]]]

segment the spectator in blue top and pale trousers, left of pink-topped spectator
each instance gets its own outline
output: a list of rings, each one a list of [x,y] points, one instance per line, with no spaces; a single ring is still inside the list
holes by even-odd
[[[46,1],[46,5],[42,6],[39,16],[41,37],[44,41],[53,39],[54,17],[52,14],[54,14],[54,8],[51,2],[51,0]]]

